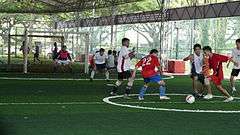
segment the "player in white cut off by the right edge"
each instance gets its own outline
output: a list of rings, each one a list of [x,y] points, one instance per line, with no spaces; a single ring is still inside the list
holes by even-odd
[[[240,39],[236,40],[236,48],[232,49],[232,59],[234,61],[236,61],[238,64],[238,66],[234,65],[233,69],[232,69],[232,73],[231,73],[231,77],[230,77],[230,85],[232,88],[232,92],[236,91],[235,88],[235,77],[238,76],[239,72],[240,72]],[[227,65],[227,67],[229,66],[229,63]]]

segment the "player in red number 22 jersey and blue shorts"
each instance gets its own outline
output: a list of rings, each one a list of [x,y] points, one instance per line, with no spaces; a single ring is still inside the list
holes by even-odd
[[[142,77],[144,78],[144,86],[141,88],[139,92],[138,99],[139,100],[144,100],[144,93],[147,90],[148,83],[154,82],[158,83],[160,85],[159,87],[159,97],[160,100],[163,99],[170,99],[165,95],[166,87],[165,87],[165,82],[161,78],[162,74],[162,69],[157,57],[158,51],[156,49],[153,49],[150,51],[150,54],[147,55],[146,57],[142,58],[136,65],[135,65],[135,70],[133,71],[133,77],[136,75],[136,70],[140,67],[142,67]],[[159,69],[159,72],[155,70],[155,68]]]

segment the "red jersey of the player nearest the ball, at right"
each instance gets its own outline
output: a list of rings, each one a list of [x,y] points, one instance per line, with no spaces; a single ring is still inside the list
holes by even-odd
[[[227,62],[229,57],[213,53],[213,56],[209,58],[209,66],[213,69],[213,76],[217,77],[220,81],[223,80],[222,63]]]

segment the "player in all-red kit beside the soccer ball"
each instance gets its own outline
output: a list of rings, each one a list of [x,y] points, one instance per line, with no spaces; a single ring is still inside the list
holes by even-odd
[[[222,87],[223,80],[223,69],[222,63],[231,61],[238,66],[238,63],[233,61],[227,56],[212,53],[212,48],[210,46],[204,46],[203,52],[206,56],[209,57],[209,66],[213,70],[213,74],[210,76],[211,81],[217,87],[217,89],[226,96],[226,99],[223,102],[230,102],[233,100],[233,97],[229,95],[226,89]]]

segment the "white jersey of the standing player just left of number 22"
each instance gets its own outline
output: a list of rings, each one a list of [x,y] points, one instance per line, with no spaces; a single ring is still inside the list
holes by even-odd
[[[124,72],[130,70],[130,57],[129,50],[126,46],[122,46],[119,56],[118,56],[118,65],[117,65],[117,71],[118,72]]]

